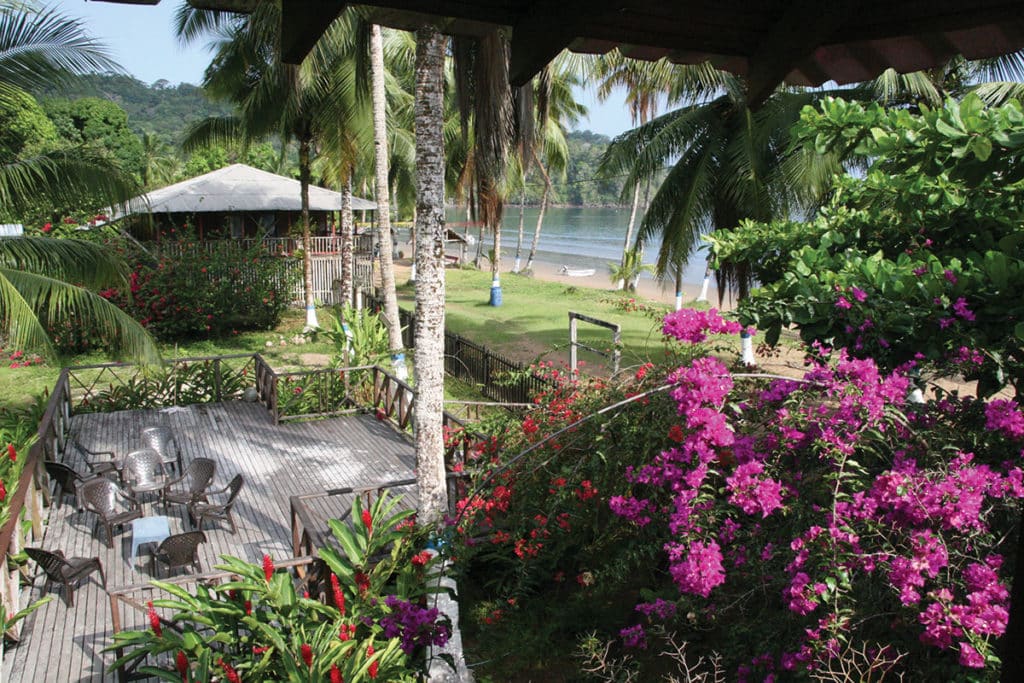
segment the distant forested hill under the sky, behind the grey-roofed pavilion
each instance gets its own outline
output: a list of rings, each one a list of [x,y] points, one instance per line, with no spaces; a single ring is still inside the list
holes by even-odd
[[[128,125],[137,133],[156,133],[168,144],[176,144],[188,124],[210,116],[230,114],[230,106],[211,102],[203,90],[188,83],[172,85],[161,80],[146,85],[131,76],[94,74],[56,91],[33,93],[38,97],[99,97],[116,102],[128,113]]]

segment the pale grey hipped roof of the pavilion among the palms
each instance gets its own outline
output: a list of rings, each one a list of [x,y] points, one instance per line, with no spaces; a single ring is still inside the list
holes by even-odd
[[[128,214],[204,213],[233,211],[300,211],[298,180],[232,164],[204,175],[154,189],[129,202]],[[377,205],[352,198],[355,211],[375,211]],[[309,186],[310,211],[340,211],[341,193]],[[119,216],[120,217],[120,216]]]

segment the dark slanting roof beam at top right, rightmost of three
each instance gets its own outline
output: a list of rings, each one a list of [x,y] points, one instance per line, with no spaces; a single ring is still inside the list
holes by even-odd
[[[762,35],[765,39],[749,57],[748,99],[758,106],[771,95],[786,75],[823,44],[831,42],[854,12],[857,0],[795,0]]]

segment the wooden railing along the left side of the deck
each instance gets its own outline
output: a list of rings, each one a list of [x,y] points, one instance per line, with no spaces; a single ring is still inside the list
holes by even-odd
[[[49,493],[44,483],[46,478],[43,464],[47,460],[58,459],[57,456],[63,451],[71,425],[71,385],[68,376],[68,370],[65,369],[57,377],[53,392],[46,403],[43,419],[39,422],[37,439],[29,449],[17,486],[9,500],[9,516],[0,527],[0,558],[4,560],[20,552],[26,545],[42,539],[43,506],[49,502]],[[13,614],[24,606],[20,578],[22,567],[12,566],[10,562],[4,561],[3,570],[0,571],[0,601],[7,614]],[[18,625],[9,635],[16,636],[19,629]]]

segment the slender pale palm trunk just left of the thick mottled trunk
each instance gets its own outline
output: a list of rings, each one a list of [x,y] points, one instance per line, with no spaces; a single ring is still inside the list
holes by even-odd
[[[377,171],[377,231],[380,242],[381,289],[384,290],[384,319],[387,322],[391,367],[398,379],[407,379],[404,344],[398,318],[398,298],[394,292],[394,261],[391,251],[391,200],[388,194],[387,98],[384,93],[384,40],[376,24],[370,30],[370,80],[374,110],[374,154]]]

